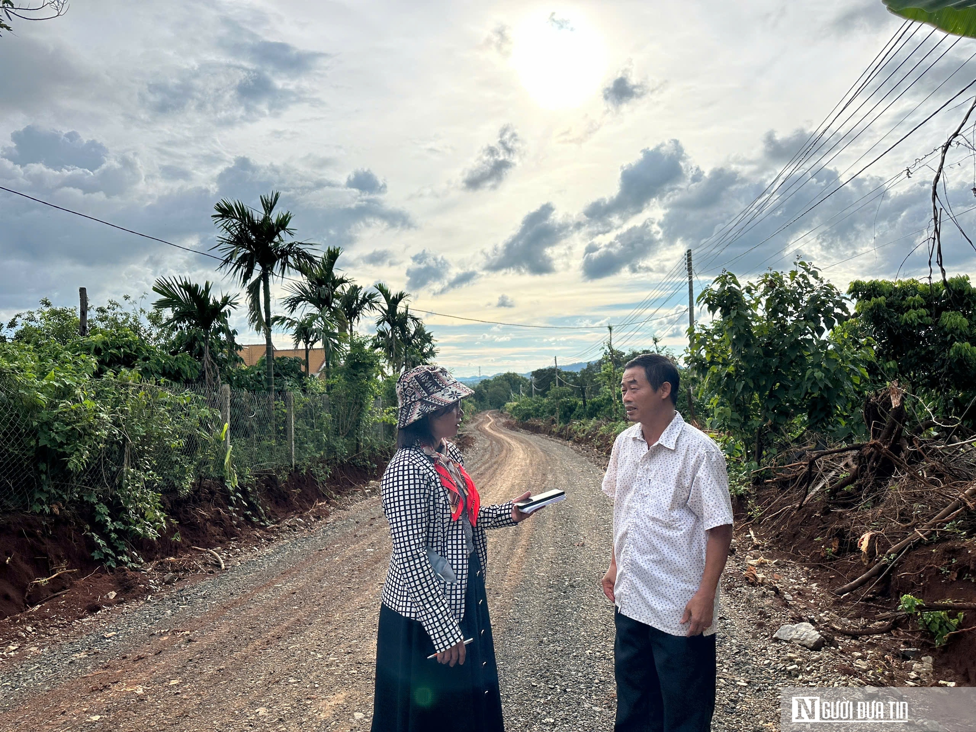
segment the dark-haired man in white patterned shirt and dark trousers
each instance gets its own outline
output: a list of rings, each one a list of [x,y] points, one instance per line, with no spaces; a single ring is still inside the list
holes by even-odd
[[[725,458],[674,409],[670,358],[644,353],[621,391],[635,423],[614,442],[603,491],[614,549],[603,577],[617,637],[616,732],[707,732],[715,706],[718,577],[732,541]]]

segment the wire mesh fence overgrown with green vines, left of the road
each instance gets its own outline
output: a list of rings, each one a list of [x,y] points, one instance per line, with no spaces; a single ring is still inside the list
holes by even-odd
[[[0,510],[125,487],[185,495],[196,481],[341,461],[384,441],[379,400],[162,387],[116,379],[0,381]],[[57,510],[57,505],[54,506]]]

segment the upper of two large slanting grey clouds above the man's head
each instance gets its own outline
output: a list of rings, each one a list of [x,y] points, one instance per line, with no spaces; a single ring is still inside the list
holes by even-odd
[[[592,224],[619,224],[639,214],[652,199],[684,178],[686,157],[676,140],[644,148],[637,160],[621,168],[617,193],[590,203],[583,211],[584,216]]]

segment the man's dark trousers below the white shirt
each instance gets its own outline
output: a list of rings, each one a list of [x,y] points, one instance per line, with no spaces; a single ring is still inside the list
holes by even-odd
[[[708,732],[715,636],[671,635],[614,610],[615,732]]]

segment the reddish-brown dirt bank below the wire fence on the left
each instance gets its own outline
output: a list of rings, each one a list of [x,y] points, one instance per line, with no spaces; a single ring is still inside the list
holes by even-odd
[[[184,499],[164,496],[164,508],[171,518],[166,532],[158,541],[138,543],[135,549],[161,576],[171,569],[206,571],[211,562],[217,566],[218,560],[193,547],[213,549],[230,541],[247,543],[256,534],[266,533],[267,525],[309,510],[316,518],[328,516],[350,490],[378,477],[383,468],[336,468],[324,485],[310,473],[294,473],[285,482],[273,474],[262,475],[254,488],[264,510],[265,520],[261,521],[252,521],[230,508],[227,494],[218,483],[204,483]],[[54,597],[63,600],[62,616],[79,617],[121,604],[147,586],[144,573],[122,567],[109,569],[94,559],[96,549],[84,522],[76,516],[63,512],[0,515],[0,619],[43,607]],[[172,566],[167,566],[168,558],[187,554],[199,561],[170,562]]]

